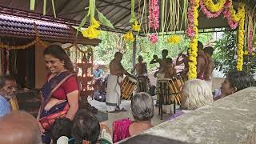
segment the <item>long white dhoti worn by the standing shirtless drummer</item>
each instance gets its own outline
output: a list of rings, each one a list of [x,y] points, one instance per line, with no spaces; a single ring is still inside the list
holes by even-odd
[[[106,89],[106,110],[114,111],[119,108],[121,103],[121,87],[118,83],[122,82],[122,77],[110,74],[107,80]]]

